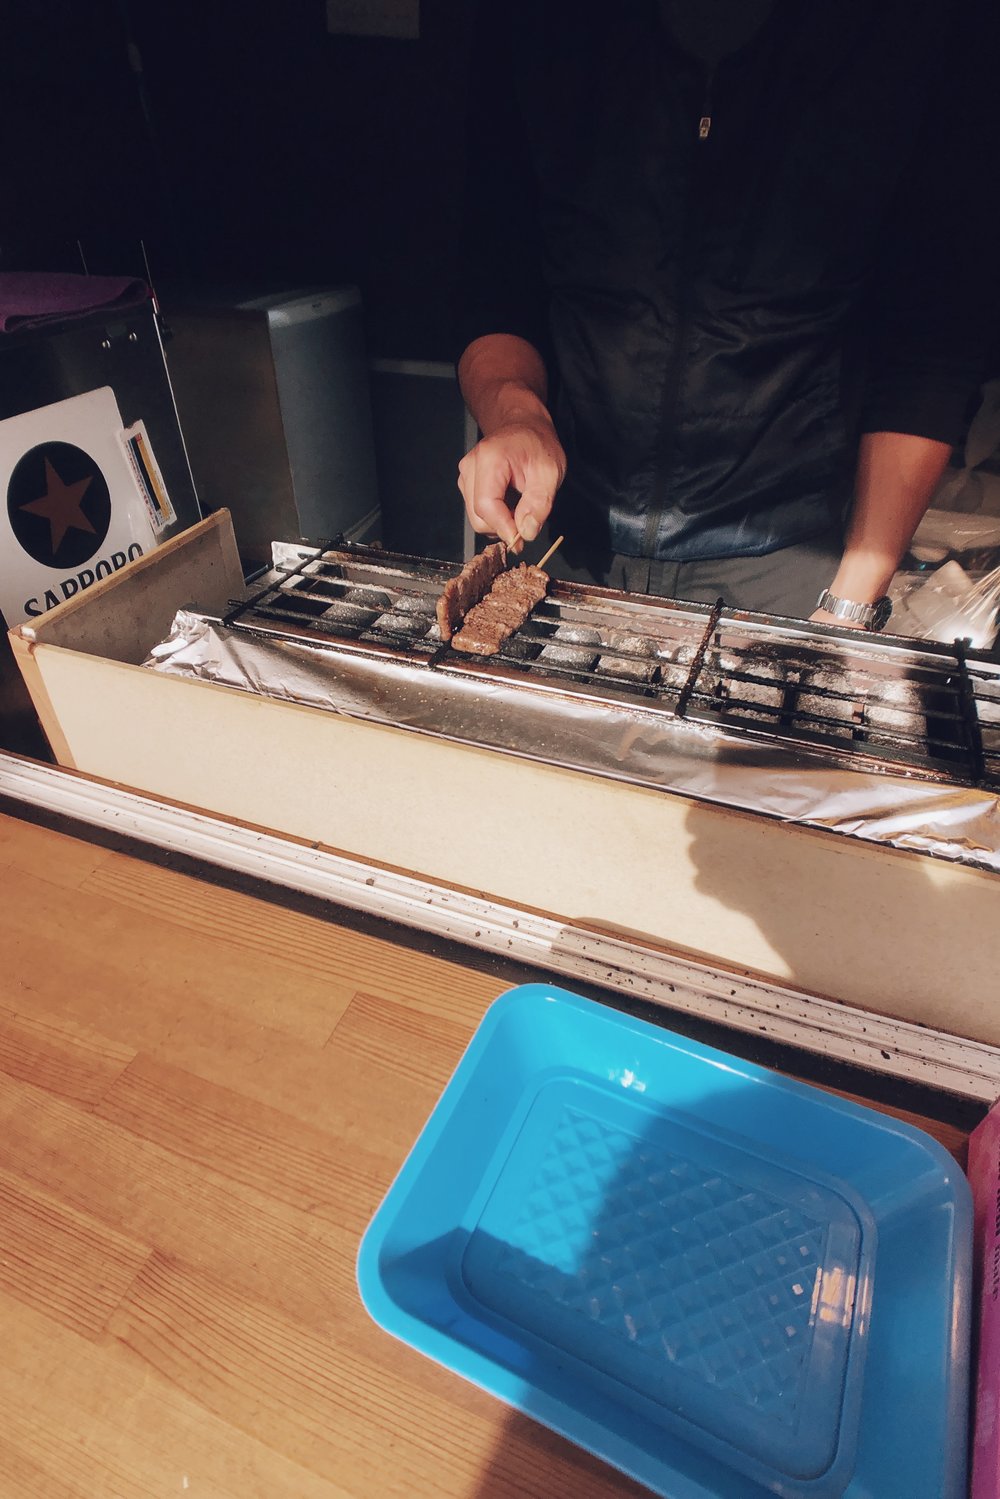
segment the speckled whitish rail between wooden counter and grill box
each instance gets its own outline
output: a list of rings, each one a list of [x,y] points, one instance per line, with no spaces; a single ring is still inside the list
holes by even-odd
[[[555,920],[0,751],[0,799],[40,808],[559,977],[993,1103],[1000,1048]]]

